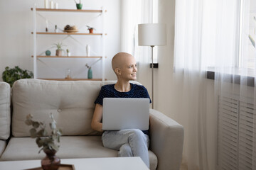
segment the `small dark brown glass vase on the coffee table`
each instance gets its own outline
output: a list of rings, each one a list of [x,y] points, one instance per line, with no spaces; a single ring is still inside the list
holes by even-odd
[[[50,149],[43,149],[46,157],[41,160],[43,170],[57,170],[60,166],[60,159],[55,156],[56,151]]]

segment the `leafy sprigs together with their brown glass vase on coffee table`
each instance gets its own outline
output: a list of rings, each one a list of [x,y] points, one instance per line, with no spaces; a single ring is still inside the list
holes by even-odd
[[[55,156],[55,153],[58,152],[60,147],[57,145],[57,142],[60,142],[60,136],[63,132],[61,129],[57,128],[57,123],[53,118],[53,113],[50,113],[50,135],[48,135],[48,132],[46,131],[45,123],[34,121],[32,118],[33,115],[28,114],[26,116],[25,123],[28,126],[33,126],[29,132],[32,138],[36,138],[36,144],[41,148],[38,153],[40,153],[41,150],[46,153],[46,157],[41,160],[41,166],[44,170],[57,170],[60,165],[60,159]],[[37,130],[38,128],[39,130]]]

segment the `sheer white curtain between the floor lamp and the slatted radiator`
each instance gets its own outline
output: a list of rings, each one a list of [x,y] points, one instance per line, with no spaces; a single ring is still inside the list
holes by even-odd
[[[176,1],[174,81],[178,82],[176,90],[181,91],[179,122],[185,130],[183,169],[208,169],[203,12],[201,0]]]

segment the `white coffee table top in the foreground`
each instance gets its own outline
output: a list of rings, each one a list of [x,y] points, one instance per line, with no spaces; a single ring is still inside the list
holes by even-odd
[[[73,164],[75,170],[149,170],[140,157],[107,157],[61,159],[61,164]],[[41,166],[41,160],[0,162],[0,169],[20,170],[32,169]]]

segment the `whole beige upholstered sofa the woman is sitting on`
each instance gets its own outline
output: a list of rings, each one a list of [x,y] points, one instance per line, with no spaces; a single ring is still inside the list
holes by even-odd
[[[90,127],[101,86],[114,82],[20,79],[12,89],[0,82],[0,161],[45,157],[43,152],[38,154],[36,141],[28,133],[30,127],[24,123],[29,113],[47,125],[49,113],[53,113],[58,127],[63,129],[56,154],[60,159],[117,157],[117,151],[103,147],[101,134]],[[182,125],[151,109],[149,132],[150,169],[179,169]]]

